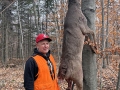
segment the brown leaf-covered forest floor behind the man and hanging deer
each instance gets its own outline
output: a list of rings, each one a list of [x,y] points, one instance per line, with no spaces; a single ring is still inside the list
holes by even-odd
[[[119,58],[117,57],[116,59],[111,60],[112,63],[105,69],[101,68],[100,63],[102,62],[100,60],[98,61],[97,90],[115,90],[118,76],[118,59]],[[0,63],[0,90],[24,90],[23,65],[20,65],[21,61],[18,60],[11,62],[15,63],[9,63],[7,68],[4,68]],[[61,90],[65,90],[67,87],[66,81],[61,81],[59,85]]]

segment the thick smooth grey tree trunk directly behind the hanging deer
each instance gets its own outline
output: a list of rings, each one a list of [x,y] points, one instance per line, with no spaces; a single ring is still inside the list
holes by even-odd
[[[88,26],[95,30],[95,0],[82,0],[81,9],[87,18]],[[84,90],[97,90],[96,55],[89,45],[85,45],[82,56]]]

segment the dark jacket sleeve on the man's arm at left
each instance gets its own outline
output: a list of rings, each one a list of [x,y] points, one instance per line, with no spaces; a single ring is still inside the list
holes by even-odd
[[[36,79],[36,74],[38,72],[38,67],[35,60],[31,57],[25,63],[24,70],[24,87],[25,90],[34,90],[34,81]]]

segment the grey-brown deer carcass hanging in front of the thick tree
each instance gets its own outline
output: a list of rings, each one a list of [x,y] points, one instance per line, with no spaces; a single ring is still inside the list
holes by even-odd
[[[83,90],[82,51],[85,35],[92,35],[93,42],[95,42],[95,35],[87,26],[87,19],[80,9],[80,0],[69,0],[63,34],[58,78],[67,80],[66,90],[71,90],[69,87],[71,80],[78,90]]]

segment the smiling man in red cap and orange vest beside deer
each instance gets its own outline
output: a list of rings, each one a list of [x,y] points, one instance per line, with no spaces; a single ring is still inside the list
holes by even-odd
[[[57,82],[56,63],[50,54],[47,35],[39,34],[36,37],[34,54],[25,64],[25,90],[60,90]]]

